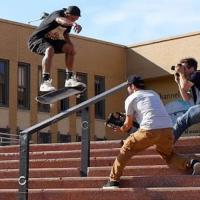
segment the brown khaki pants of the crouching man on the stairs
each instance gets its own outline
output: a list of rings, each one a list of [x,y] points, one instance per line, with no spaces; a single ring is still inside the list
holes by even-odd
[[[177,169],[187,169],[190,159],[178,155],[173,151],[173,141],[174,135],[171,128],[155,130],[139,129],[125,140],[113,164],[110,180],[119,181],[128,160],[133,155],[152,145],[156,145],[156,151],[168,165],[172,165]]]

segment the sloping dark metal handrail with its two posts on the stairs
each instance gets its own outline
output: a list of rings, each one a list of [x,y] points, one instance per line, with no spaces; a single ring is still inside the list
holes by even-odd
[[[20,132],[20,169],[19,169],[19,200],[28,200],[28,178],[29,178],[29,142],[33,133],[54,124],[69,115],[81,111],[82,119],[82,149],[81,149],[81,176],[87,176],[87,168],[90,162],[90,123],[87,107],[95,104],[105,97],[118,92],[127,85],[127,82],[121,83],[91,99],[88,99],[78,105],[69,108],[49,119],[46,119],[36,125],[33,125]]]

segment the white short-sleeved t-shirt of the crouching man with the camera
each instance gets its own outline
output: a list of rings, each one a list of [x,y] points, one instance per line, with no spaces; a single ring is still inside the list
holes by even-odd
[[[141,129],[171,128],[172,121],[160,96],[152,90],[138,90],[125,101],[126,115],[133,115]]]

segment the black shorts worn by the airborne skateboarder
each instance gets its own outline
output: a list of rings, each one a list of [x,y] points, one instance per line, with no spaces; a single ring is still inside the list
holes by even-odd
[[[53,47],[55,53],[63,53],[63,46],[66,44],[65,40],[52,40],[49,38],[31,37],[28,41],[28,48],[39,55],[44,55],[48,47]]]

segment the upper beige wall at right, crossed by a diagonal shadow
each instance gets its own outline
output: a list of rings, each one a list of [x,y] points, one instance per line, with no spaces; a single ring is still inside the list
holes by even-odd
[[[144,78],[165,76],[183,57],[195,57],[200,61],[199,50],[200,33],[130,46],[127,49],[127,72]]]

